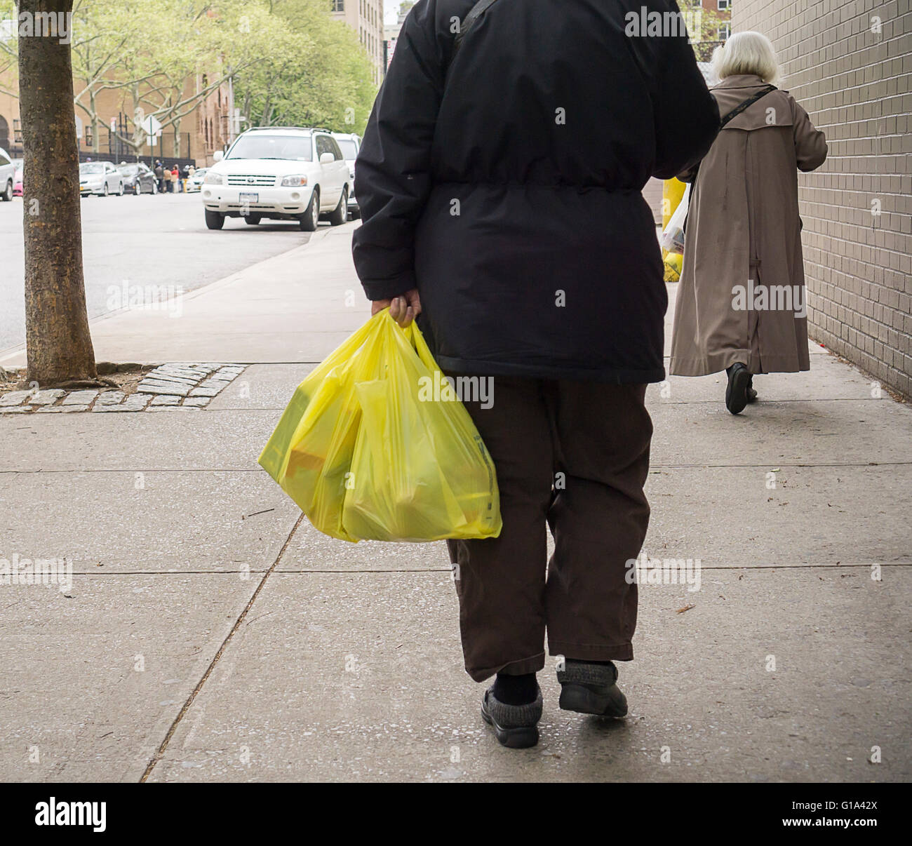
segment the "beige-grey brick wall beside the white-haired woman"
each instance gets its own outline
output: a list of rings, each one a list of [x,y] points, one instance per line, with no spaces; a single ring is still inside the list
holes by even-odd
[[[910,0],[735,0],[732,31],[772,39],[829,157],[799,175],[809,330],[912,395]],[[880,32],[872,31],[878,27]],[[879,214],[872,213],[872,210]]]

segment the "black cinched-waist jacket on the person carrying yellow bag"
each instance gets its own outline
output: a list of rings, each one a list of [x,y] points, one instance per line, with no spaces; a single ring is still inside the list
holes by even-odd
[[[353,238],[368,297],[417,287],[445,370],[663,379],[668,301],[640,191],[719,127],[686,35],[633,34],[641,7],[677,6],[499,0],[454,55],[472,5],[412,8],[374,104]]]

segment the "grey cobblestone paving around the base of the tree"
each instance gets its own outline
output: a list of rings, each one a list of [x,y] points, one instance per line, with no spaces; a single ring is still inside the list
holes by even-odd
[[[167,364],[145,374],[136,393],[125,395],[116,388],[67,391],[10,391],[0,395],[2,414],[68,414],[75,411],[146,411],[168,408],[204,408],[218,396],[246,365]]]

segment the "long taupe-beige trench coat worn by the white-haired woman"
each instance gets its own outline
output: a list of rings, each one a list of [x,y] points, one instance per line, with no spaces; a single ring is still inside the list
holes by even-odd
[[[720,116],[763,85],[726,77],[711,89]],[[705,376],[739,361],[751,373],[810,369],[797,171],[825,158],[824,133],[787,91],[721,129],[690,189],[672,374]]]

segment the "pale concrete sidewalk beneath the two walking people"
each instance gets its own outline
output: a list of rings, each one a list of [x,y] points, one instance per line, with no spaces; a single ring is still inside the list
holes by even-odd
[[[641,587],[627,720],[549,667],[540,745],[499,747],[444,546],[332,541],[256,465],[366,318],[352,229],[93,325],[99,360],[249,363],[207,408],[0,418],[0,559],[75,562],[0,585],[0,779],[912,776],[912,413],[815,345],[738,418],[721,377],[649,388],[646,552],[700,591]]]

